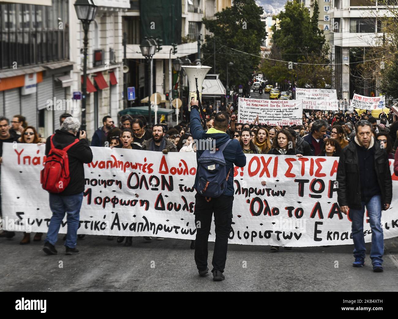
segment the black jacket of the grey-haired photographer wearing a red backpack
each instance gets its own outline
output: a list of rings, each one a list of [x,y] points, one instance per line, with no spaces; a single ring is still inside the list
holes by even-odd
[[[51,143],[49,136],[46,141],[45,154],[48,156]],[[54,147],[58,149],[65,148],[76,140],[76,136],[66,130],[56,130],[53,137]],[[68,150],[69,159],[69,185],[59,195],[76,195],[84,191],[84,167],[83,163],[90,163],[93,160],[93,153],[86,139],[79,140]]]

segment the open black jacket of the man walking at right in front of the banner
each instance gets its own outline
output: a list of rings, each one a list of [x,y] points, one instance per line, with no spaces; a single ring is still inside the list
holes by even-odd
[[[381,192],[382,210],[384,204],[391,204],[392,179],[387,153],[380,148],[380,144],[374,140],[375,171],[377,183]],[[341,151],[337,169],[337,200],[340,206],[348,206],[352,209],[361,209],[361,183],[359,180],[359,165],[355,140]]]

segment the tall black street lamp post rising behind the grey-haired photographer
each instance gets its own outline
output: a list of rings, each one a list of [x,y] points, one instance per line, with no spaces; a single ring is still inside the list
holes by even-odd
[[[93,0],[77,0],[74,4],[77,18],[84,30],[83,38],[83,84],[82,84],[82,130],[86,130],[86,95],[87,95],[87,46],[88,29],[97,13],[97,6]]]

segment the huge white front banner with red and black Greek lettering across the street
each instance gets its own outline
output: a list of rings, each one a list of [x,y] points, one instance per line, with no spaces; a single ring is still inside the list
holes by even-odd
[[[3,224],[8,230],[29,224],[33,232],[46,232],[49,195],[39,183],[45,147],[15,145],[14,149],[13,144],[3,144]],[[92,163],[84,165],[78,233],[195,239],[200,227],[193,215],[196,154],[92,150]],[[246,166],[234,168],[230,243],[288,247],[353,243],[349,214],[343,214],[337,203],[338,158],[246,156]],[[398,177],[392,174],[392,178],[396,190]],[[394,196],[391,207],[382,213],[384,238],[398,236],[397,205]],[[369,242],[366,215],[364,236]],[[66,229],[65,216],[60,233]],[[210,233],[214,241],[214,225]]]

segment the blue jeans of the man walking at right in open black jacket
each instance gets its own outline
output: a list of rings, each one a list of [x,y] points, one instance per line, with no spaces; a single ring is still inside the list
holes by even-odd
[[[354,257],[362,257],[365,259],[365,238],[363,235],[363,214],[365,206],[368,210],[369,224],[372,230],[372,246],[371,259],[372,263],[375,261],[383,262],[382,256],[384,253],[383,230],[381,229],[381,196],[373,196],[368,202],[361,202],[362,208],[360,210],[350,209],[349,216],[352,220],[351,231],[352,239],[354,241]]]

